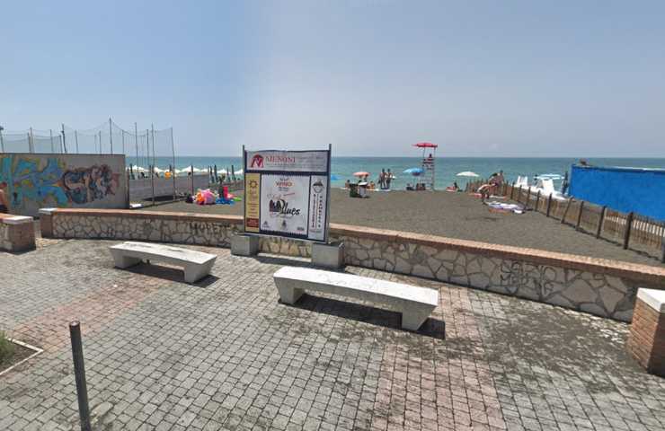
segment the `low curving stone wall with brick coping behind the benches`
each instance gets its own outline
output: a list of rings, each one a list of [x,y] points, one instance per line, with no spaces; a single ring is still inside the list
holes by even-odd
[[[58,209],[58,238],[108,238],[229,247],[240,216],[147,211]],[[44,234],[44,233],[42,233]],[[48,236],[46,233],[45,236]],[[354,266],[425,277],[630,321],[640,287],[665,289],[665,268],[454,240],[418,233],[331,224],[331,240],[344,242]],[[308,257],[306,242],[262,237],[262,251]]]

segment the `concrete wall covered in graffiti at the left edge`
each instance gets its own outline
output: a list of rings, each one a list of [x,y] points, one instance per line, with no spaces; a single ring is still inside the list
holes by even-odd
[[[10,212],[38,216],[44,207],[128,207],[125,156],[0,154],[0,184]]]

